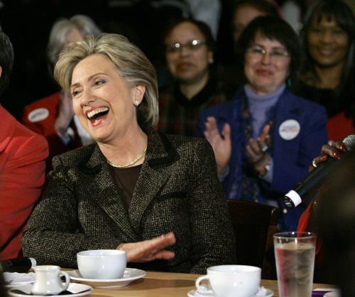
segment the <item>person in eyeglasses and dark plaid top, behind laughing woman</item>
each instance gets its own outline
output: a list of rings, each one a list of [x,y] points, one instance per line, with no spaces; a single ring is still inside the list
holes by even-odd
[[[158,129],[192,136],[199,112],[227,97],[211,69],[214,39],[206,23],[181,18],[166,28],[163,41],[173,81],[159,90]]]

